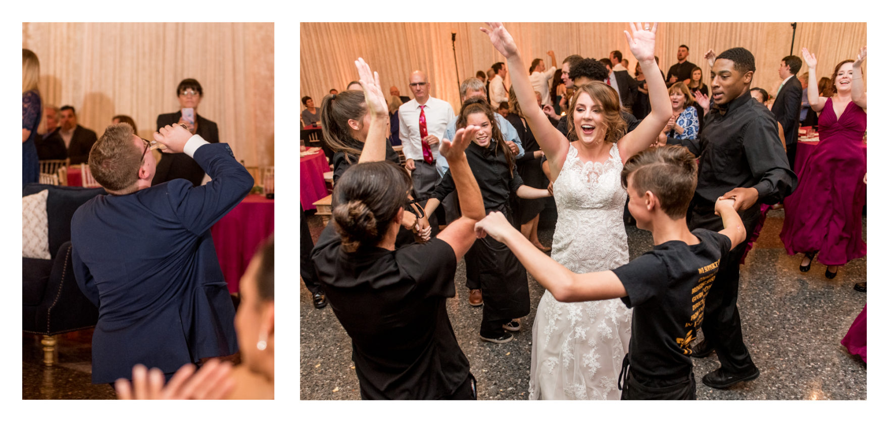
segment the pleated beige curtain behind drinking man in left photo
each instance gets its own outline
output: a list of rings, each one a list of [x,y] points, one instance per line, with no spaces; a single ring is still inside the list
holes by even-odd
[[[130,115],[150,139],[157,115],[180,108],[176,87],[197,79],[200,115],[219,125],[248,166],[275,163],[272,23],[23,23],[22,47],[40,59],[45,105],[71,105],[101,136]]]

